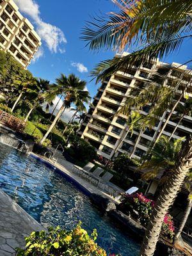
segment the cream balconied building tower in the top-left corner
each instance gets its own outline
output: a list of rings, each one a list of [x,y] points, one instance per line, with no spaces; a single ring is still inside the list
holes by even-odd
[[[24,18],[12,0],[0,0],[0,49],[10,52],[24,68],[28,67],[40,37],[31,22]]]

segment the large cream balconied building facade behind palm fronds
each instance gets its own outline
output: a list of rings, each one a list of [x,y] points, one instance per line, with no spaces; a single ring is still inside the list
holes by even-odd
[[[124,52],[123,55],[125,54],[127,52]],[[115,149],[119,145],[120,140],[124,138],[128,127],[126,118],[116,116],[115,113],[120,109],[130,90],[136,86],[142,86],[149,74],[157,70],[158,67],[162,67],[163,64],[165,63],[158,60],[146,61],[142,67],[132,67],[129,73],[118,71],[110,77],[109,81],[102,83],[79,130],[81,138],[84,138],[84,140],[89,141],[96,147],[98,154],[106,157],[106,159],[111,159],[114,155],[118,156],[121,153],[127,153],[137,158],[146,154],[149,145],[152,141],[156,140],[157,134],[166,121],[169,112],[164,113],[153,129],[146,129],[143,132],[134,129],[132,135],[129,132],[118,150]],[[172,64],[174,67],[178,67],[177,70],[172,71],[169,78],[174,81],[174,79],[178,79],[182,71],[187,67],[184,65],[180,67],[178,63]],[[191,92],[192,90],[187,92],[189,97],[192,97]],[[184,102],[184,100],[183,98],[181,101]],[[147,115],[149,109],[150,106],[145,106],[141,113]],[[173,115],[166,125],[163,134],[170,136],[178,120],[179,118],[175,118]],[[192,133],[192,118],[191,116],[184,116],[173,138],[180,138],[189,133]]]

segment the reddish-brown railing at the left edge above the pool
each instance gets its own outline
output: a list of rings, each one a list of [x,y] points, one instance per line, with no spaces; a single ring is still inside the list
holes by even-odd
[[[9,113],[0,110],[0,123],[4,124],[15,131],[24,131],[26,122],[20,120],[19,118],[10,115]]]

